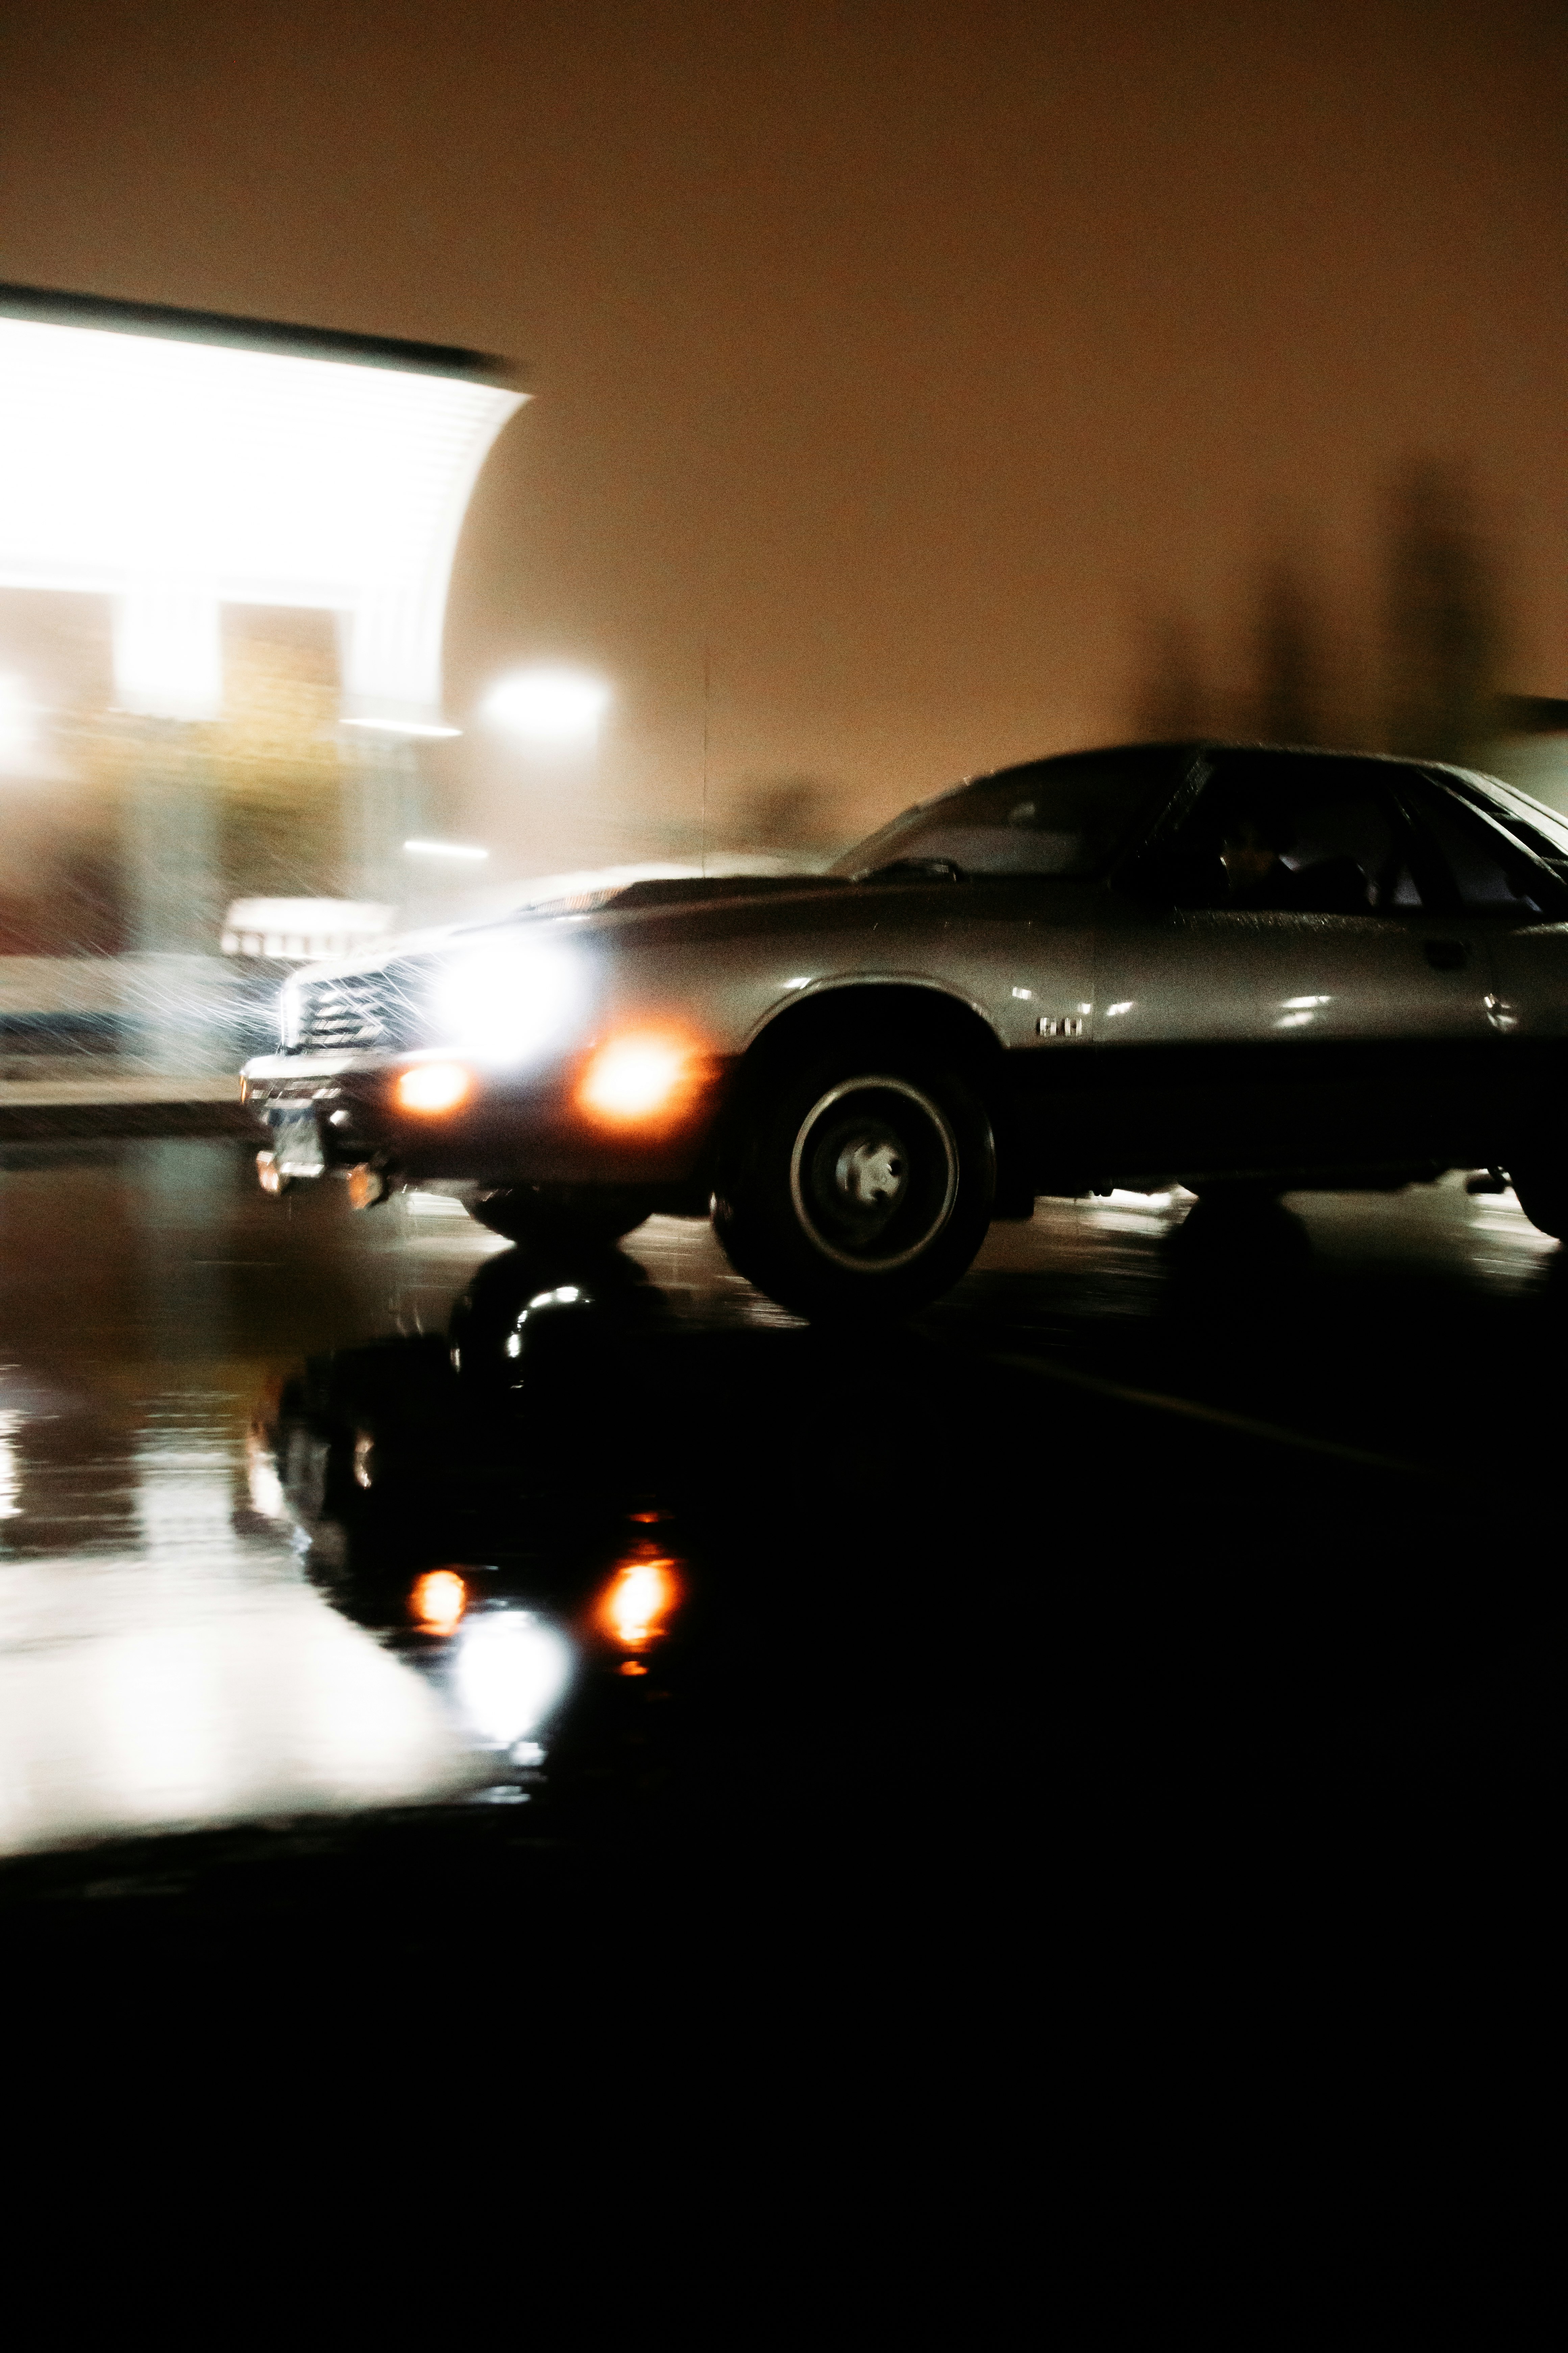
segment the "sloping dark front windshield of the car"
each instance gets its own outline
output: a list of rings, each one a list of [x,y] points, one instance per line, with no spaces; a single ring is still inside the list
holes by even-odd
[[[905,809],[830,873],[865,880],[924,866],[957,875],[1095,875],[1164,800],[1175,772],[1168,744],[1030,760]]]

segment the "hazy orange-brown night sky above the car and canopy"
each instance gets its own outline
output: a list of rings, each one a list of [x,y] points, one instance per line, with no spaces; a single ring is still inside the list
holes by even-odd
[[[1568,694],[1559,5],[12,0],[0,275],[527,362],[447,694],[616,682],[597,776],[484,732],[454,824],[658,854],[816,776],[839,831],[1128,729],[1182,607],[1241,682],[1316,569],[1352,694],[1389,475],[1474,468],[1509,685]]]

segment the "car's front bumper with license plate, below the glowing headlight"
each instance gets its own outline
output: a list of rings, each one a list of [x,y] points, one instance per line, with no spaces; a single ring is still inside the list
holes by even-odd
[[[679,1186],[701,1176],[724,1099],[726,1066],[703,1064],[682,1104],[642,1125],[604,1127],[578,1106],[585,1056],[527,1080],[465,1064],[456,1111],[409,1113],[395,1099],[421,1054],[259,1054],[240,1073],[242,1101],[273,1134],[284,1174],[374,1165],[395,1181]],[[458,1059],[458,1056],[442,1056]],[[310,1134],[320,1153],[313,1167]]]

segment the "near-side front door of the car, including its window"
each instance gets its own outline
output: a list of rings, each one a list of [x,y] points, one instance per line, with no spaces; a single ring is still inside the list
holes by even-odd
[[[1175,1172],[1446,1160],[1497,1035],[1486,941],[1375,760],[1213,753],[1110,894],[1095,1104],[1110,1155]],[[1272,882],[1237,892],[1253,809]]]

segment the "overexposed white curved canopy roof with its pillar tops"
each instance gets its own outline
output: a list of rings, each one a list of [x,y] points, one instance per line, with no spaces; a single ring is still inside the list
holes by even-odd
[[[226,339],[226,334],[230,339]],[[0,289],[0,586],[115,598],[115,699],[209,718],[219,607],[343,614],[343,715],[442,720],[463,508],[524,395],[477,353]]]

